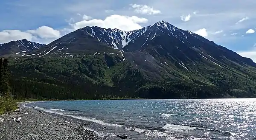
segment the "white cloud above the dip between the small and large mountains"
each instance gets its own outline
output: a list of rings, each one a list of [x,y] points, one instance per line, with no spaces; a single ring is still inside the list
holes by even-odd
[[[39,36],[42,39],[58,38],[61,36],[60,31],[54,30],[53,28],[48,26],[41,26],[35,30],[28,30],[27,32],[35,36]]]

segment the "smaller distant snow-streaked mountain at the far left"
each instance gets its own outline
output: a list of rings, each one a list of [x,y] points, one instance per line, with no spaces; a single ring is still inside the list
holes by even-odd
[[[26,39],[11,41],[8,43],[0,44],[0,56],[9,56],[15,54],[19,56],[37,50],[43,46],[44,44],[30,42]]]

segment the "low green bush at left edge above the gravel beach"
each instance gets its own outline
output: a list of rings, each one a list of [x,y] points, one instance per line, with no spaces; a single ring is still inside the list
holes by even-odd
[[[0,115],[17,109],[18,103],[9,96],[0,96]]]

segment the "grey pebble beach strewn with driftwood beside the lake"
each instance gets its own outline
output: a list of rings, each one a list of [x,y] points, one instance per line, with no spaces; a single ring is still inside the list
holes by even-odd
[[[27,108],[20,106],[22,111]],[[21,117],[18,123],[12,117]],[[101,140],[93,131],[83,129],[89,122],[67,116],[41,112],[30,108],[28,114],[15,113],[1,115],[4,121],[0,123],[0,140]],[[56,122],[70,121],[68,124]],[[48,123],[51,123],[48,125]]]

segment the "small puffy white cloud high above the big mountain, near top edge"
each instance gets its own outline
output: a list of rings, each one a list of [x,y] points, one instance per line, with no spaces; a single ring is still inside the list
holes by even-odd
[[[154,10],[153,7],[149,7],[147,5],[140,5],[140,4],[131,4],[131,7],[134,8],[134,11],[140,14],[161,14],[161,11]]]

